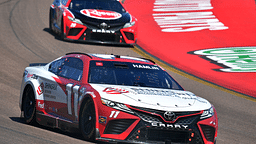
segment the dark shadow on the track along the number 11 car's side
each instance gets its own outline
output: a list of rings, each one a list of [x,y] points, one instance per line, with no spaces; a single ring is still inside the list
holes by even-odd
[[[17,122],[17,123],[21,123],[21,124],[25,124],[25,121],[23,118],[21,117],[9,117],[12,121],[14,122]],[[55,133],[59,133],[59,134],[63,134],[63,135],[66,135],[68,137],[71,137],[71,138],[75,138],[75,139],[79,139],[79,140],[83,140],[83,136],[81,133],[79,132],[74,132],[74,133],[71,133],[71,132],[66,132],[66,131],[63,131],[63,130],[60,130],[60,129],[57,129],[57,128],[50,128],[50,127],[46,127],[46,126],[42,126],[42,125],[39,125],[38,123],[35,123],[35,124],[31,124],[32,126],[35,126],[37,128],[40,128],[40,129],[44,129],[44,130],[48,130],[48,131],[51,131],[51,132],[55,132]],[[101,142],[98,142],[98,141],[87,141],[87,142],[91,142],[91,143],[98,143],[98,144],[103,144]]]

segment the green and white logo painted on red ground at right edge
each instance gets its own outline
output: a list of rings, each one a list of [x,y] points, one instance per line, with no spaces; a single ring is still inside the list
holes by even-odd
[[[222,66],[222,72],[256,72],[256,47],[232,47],[189,52]]]

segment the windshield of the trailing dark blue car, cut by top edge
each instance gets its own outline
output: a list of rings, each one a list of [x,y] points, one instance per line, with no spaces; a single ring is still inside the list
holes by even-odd
[[[82,9],[99,9],[109,10],[119,13],[124,13],[125,9],[119,1],[113,0],[72,0],[69,9],[82,10]]]

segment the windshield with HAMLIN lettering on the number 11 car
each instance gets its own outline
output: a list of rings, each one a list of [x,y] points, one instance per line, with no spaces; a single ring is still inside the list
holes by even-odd
[[[183,90],[157,65],[140,63],[91,61],[88,82]]]

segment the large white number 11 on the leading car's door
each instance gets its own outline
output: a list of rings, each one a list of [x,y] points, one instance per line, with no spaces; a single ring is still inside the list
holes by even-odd
[[[72,87],[73,84],[67,84],[66,85],[66,91],[67,91],[67,107],[68,107],[68,114],[72,115],[72,107],[71,107],[71,99],[72,99]],[[75,85],[73,87],[73,93],[74,93],[74,112],[75,112],[75,116],[78,117],[77,115],[77,105],[78,105],[78,90],[79,90],[80,86],[79,85]]]

